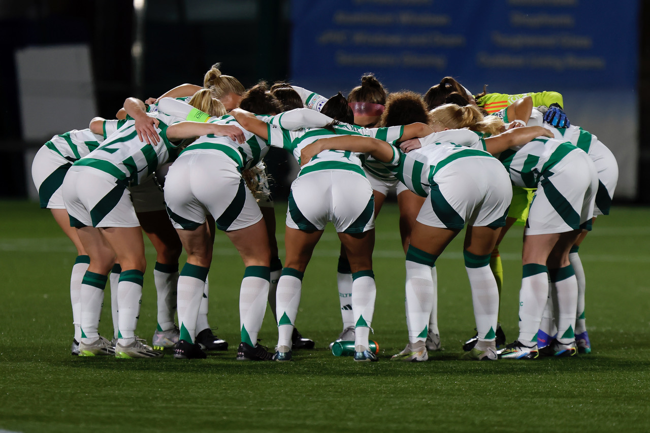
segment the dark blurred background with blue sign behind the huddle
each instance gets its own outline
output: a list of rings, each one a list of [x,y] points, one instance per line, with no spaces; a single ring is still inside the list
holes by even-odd
[[[3,0],[0,198],[36,200],[34,153],[114,118],[129,96],[201,85],[215,62],[246,87],[347,95],[372,72],[424,93],[450,75],[478,94],[554,90],[616,155],[615,200],[650,203],[647,2],[625,0]],[[288,194],[289,155],[268,166]]]

